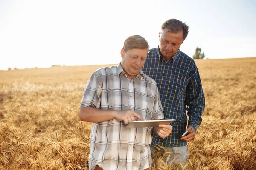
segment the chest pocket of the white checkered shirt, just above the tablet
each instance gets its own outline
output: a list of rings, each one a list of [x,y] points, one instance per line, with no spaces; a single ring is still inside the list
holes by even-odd
[[[154,98],[143,94],[137,94],[138,101],[136,102],[137,113],[145,120],[151,120],[154,110]]]

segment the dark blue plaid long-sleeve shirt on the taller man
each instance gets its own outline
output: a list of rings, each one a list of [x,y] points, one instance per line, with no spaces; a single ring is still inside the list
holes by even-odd
[[[180,136],[186,131],[187,122],[197,130],[205,106],[198,68],[195,61],[180,50],[167,61],[159,51],[159,48],[149,51],[142,71],[157,82],[165,119],[175,119],[175,122],[171,123],[173,130],[166,138],[153,133],[151,146],[185,146],[187,143]]]

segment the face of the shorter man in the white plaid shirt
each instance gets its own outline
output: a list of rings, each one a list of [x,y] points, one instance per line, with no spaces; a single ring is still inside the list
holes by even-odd
[[[148,55],[148,49],[131,49],[128,51],[121,50],[122,57],[122,68],[125,71],[126,75],[133,79],[140,73],[142,66],[144,65]]]

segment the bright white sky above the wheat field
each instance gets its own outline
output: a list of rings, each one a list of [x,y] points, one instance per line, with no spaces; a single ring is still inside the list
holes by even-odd
[[[180,50],[256,57],[255,0],[0,0],[0,70],[115,64],[125,38],[157,47],[171,18],[190,29]]]

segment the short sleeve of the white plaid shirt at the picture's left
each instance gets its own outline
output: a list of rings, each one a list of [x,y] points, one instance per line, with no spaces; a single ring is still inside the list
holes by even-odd
[[[102,94],[102,85],[100,84],[97,74],[94,72],[84,87],[83,98],[79,108],[92,106],[100,108],[100,96]]]

